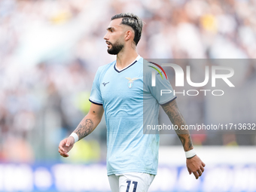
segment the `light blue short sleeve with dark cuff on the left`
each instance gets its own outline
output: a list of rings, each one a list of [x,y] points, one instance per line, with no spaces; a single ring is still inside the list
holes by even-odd
[[[101,68],[98,69],[96,72],[94,81],[93,81],[93,87],[90,92],[90,102],[93,102],[96,105],[102,105],[102,93],[100,92],[100,74],[101,74]]]

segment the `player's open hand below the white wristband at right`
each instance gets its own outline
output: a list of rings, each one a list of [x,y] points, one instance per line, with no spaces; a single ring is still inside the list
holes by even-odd
[[[203,163],[203,161],[200,160],[200,157],[197,155],[187,159],[187,171],[189,174],[193,172],[196,178],[199,178],[202,175],[203,171],[205,170],[203,167],[205,166],[206,164]]]

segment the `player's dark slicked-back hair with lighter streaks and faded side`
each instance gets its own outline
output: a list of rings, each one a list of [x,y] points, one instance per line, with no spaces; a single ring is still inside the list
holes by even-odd
[[[111,20],[115,20],[119,18],[123,18],[120,24],[130,26],[133,28],[135,32],[133,41],[137,45],[139,40],[142,37],[142,26],[143,26],[142,20],[135,14],[131,14],[131,13],[116,14],[113,17],[111,17]]]

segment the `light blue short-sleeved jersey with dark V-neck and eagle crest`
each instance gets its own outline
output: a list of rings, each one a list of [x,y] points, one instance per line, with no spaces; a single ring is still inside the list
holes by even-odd
[[[156,75],[160,86],[151,87],[151,71],[143,73],[143,59],[138,56],[125,69],[118,70],[114,61],[96,73],[90,102],[103,105],[105,110],[108,175],[157,174],[159,135],[143,134],[143,123],[157,123],[160,105],[175,96],[160,96],[160,90],[172,90],[169,81],[160,75]],[[144,115],[143,102],[150,104]],[[147,118],[143,120],[143,116]]]

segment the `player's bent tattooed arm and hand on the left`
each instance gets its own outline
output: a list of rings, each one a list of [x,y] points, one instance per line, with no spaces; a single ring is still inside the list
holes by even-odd
[[[102,120],[103,112],[104,109],[102,105],[92,103],[89,113],[84,117],[83,120],[81,120],[78,127],[74,131],[74,133],[78,135],[78,140],[83,139],[85,136],[88,136],[93,132],[93,130],[95,130],[100,120]],[[63,139],[61,142],[59,142],[59,154],[62,157],[69,157],[68,152],[73,148],[74,144],[75,139],[72,136]]]

